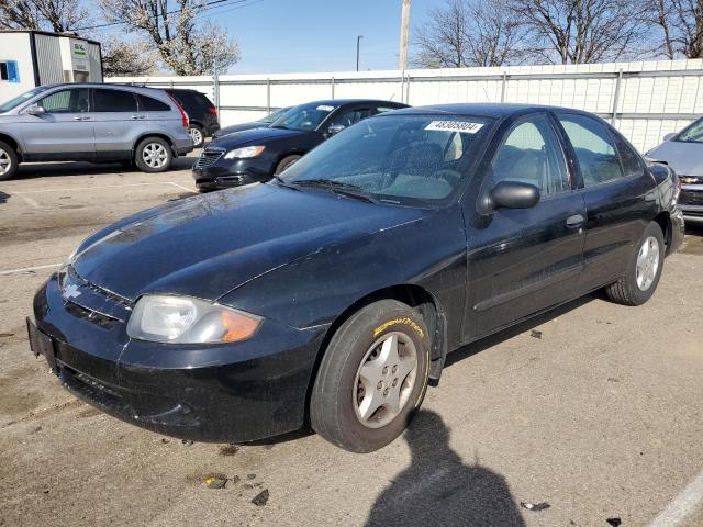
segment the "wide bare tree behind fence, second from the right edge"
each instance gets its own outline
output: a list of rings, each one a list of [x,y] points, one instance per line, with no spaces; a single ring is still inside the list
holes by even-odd
[[[535,55],[582,64],[634,57],[646,22],[637,0],[512,0]]]

